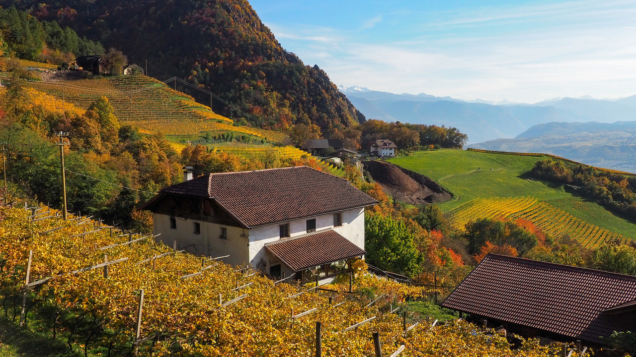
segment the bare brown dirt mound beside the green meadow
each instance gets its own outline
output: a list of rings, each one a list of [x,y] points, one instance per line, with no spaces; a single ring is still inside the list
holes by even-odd
[[[386,161],[363,161],[373,180],[394,199],[411,205],[448,201],[452,194],[431,178]]]

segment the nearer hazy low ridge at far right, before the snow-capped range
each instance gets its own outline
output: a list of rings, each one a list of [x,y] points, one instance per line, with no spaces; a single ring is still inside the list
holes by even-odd
[[[636,173],[636,121],[616,123],[546,123],[512,139],[469,147],[497,151],[544,152],[586,163]]]

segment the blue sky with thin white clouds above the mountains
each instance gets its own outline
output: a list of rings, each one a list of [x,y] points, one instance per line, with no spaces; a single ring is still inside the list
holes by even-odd
[[[252,0],[340,85],[539,102],[636,94],[636,0]]]

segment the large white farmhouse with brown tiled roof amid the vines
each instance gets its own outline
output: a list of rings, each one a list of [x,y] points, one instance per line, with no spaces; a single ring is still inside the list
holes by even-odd
[[[347,180],[307,166],[208,173],[142,206],[167,245],[282,278],[326,278],[364,255],[364,208],[378,202]]]

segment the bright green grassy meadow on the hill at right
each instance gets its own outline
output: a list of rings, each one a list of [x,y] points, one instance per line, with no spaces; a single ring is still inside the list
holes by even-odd
[[[597,203],[565,192],[562,185],[524,179],[522,175],[541,159],[448,149],[415,152],[413,156],[389,161],[431,177],[453,192],[455,199],[439,205],[444,212],[478,198],[530,196],[594,226],[636,238],[636,224],[613,215]]]

